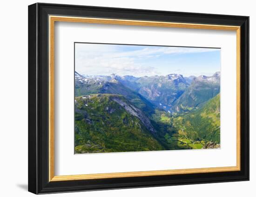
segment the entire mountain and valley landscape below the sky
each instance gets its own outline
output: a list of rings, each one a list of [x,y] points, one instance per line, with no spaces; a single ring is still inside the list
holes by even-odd
[[[74,77],[75,153],[219,147],[220,72]]]

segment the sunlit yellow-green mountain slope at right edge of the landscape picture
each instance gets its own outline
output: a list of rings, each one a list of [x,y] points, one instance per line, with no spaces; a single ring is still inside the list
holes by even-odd
[[[220,94],[206,102],[202,108],[173,119],[180,136],[201,142],[220,143]]]

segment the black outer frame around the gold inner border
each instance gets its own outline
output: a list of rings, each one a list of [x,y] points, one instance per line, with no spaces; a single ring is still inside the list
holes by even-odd
[[[48,15],[241,27],[241,170],[49,182]],[[35,194],[249,180],[249,17],[35,3],[28,6],[28,191]]]

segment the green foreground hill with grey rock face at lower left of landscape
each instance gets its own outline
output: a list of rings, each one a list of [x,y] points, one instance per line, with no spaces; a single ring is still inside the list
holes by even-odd
[[[75,97],[75,153],[164,150],[155,132],[121,95]]]

